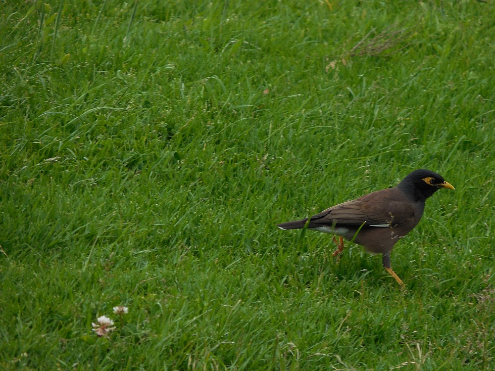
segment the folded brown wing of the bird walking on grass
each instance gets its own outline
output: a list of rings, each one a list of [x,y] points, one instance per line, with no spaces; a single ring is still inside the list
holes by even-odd
[[[331,227],[395,227],[414,218],[408,199],[396,188],[382,189],[352,201],[332,206],[313,215],[309,228]]]

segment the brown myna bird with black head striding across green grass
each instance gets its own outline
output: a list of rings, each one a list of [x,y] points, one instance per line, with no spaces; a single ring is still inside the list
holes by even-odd
[[[369,253],[382,254],[383,266],[403,286],[404,282],[392,270],[390,254],[395,244],[417,226],[426,200],[442,188],[455,189],[431,170],[414,170],[395,187],[368,193],[312,217],[278,224],[278,227],[334,234],[337,244],[334,257],[342,253],[344,238],[363,246]]]

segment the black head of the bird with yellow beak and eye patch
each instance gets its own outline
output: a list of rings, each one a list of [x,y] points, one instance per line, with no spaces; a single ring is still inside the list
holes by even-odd
[[[415,200],[426,200],[440,188],[454,189],[440,174],[431,170],[414,170],[397,185]]]

